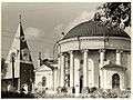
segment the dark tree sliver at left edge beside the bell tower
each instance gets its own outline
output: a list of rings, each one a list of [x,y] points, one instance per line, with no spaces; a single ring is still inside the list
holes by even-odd
[[[7,68],[8,68],[8,64],[6,63],[6,59],[1,58],[1,78],[6,77],[8,71]]]

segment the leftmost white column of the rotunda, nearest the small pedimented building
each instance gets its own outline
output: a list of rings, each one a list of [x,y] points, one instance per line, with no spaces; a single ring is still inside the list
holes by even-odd
[[[61,79],[60,79],[60,87],[64,87],[64,66],[65,66],[65,60],[63,53],[61,54]]]

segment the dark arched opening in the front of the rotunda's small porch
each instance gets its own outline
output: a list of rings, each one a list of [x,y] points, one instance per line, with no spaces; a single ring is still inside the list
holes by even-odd
[[[120,76],[117,73],[112,76],[112,88],[120,88]]]

